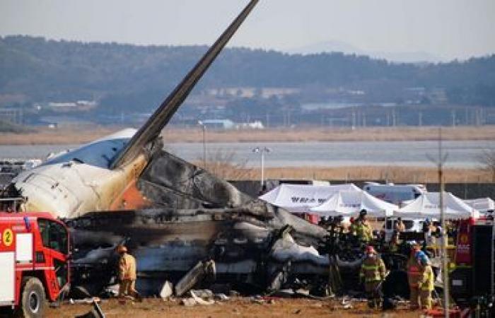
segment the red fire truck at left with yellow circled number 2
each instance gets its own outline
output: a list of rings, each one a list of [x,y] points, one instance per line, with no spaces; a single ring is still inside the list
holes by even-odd
[[[50,213],[0,212],[0,306],[42,317],[69,288],[69,231]]]

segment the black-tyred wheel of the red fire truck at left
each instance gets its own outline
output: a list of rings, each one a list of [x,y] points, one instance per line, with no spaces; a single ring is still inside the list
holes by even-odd
[[[35,277],[23,279],[23,293],[17,316],[26,318],[41,318],[45,312],[45,288]]]

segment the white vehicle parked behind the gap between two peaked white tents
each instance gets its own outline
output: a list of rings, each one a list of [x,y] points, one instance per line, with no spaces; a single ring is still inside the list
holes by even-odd
[[[375,182],[366,183],[363,190],[380,200],[397,204],[400,208],[427,192],[423,184],[379,184]]]

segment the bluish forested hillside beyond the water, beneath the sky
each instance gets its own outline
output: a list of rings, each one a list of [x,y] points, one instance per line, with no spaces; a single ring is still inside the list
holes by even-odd
[[[31,102],[107,100],[154,109],[206,47],[134,46],[0,37],[0,95]],[[346,88],[392,100],[405,88],[444,88],[449,102],[495,106],[495,55],[448,64],[390,64],[364,56],[226,49],[199,87]],[[107,106],[107,105],[105,105]]]

